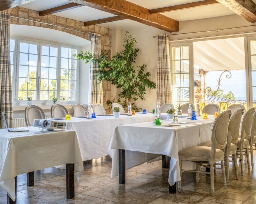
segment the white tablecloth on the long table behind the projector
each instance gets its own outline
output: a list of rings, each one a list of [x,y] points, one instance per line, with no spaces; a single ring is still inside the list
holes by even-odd
[[[120,118],[114,118],[114,116],[96,116],[93,119],[72,117],[70,121],[63,121],[67,122],[66,129],[76,131],[82,159],[85,161],[108,155],[108,145],[118,125],[153,120],[154,114],[152,113],[136,113],[133,116],[120,115]]]

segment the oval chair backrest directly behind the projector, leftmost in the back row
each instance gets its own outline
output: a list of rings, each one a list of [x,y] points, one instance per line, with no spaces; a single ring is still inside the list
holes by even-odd
[[[25,122],[27,127],[33,125],[34,119],[45,119],[44,111],[38,106],[27,106],[25,108]]]

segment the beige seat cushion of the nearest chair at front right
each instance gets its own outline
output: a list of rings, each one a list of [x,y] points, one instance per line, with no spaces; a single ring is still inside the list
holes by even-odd
[[[182,156],[182,160],[188,161],[209,161],[211,147],[207,146],[194,146],[188,147],[179,151],[179,156]],[[220,149],[216,149],[215,160],[222,160],[224,158],[224,152]]]

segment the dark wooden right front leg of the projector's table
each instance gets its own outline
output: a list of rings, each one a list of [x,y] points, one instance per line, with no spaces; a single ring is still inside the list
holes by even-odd
[[[75,175],[74,164],[66,164],[66,186],[67,186],[67,199],[75,197]]]

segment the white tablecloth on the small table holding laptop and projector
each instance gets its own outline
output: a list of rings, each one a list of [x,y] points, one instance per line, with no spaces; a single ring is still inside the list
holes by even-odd
[[[75,131],[41,131],[27,127],[28,132],[0,129],[0,186],[15,200],[14,177],[51,166],[74,163],[77,180],[83,161]]]

